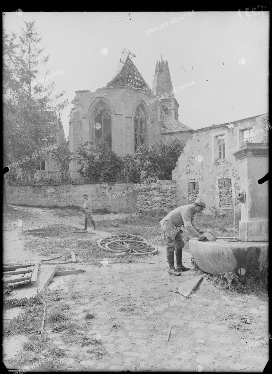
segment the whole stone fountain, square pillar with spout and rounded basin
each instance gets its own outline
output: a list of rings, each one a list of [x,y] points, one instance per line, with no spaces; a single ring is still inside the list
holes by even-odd
[[[249,276],[268,269],[268,143],[246,143],[234,156],[241,163],[239,240],[189,240],[195,263],[213,275]]]

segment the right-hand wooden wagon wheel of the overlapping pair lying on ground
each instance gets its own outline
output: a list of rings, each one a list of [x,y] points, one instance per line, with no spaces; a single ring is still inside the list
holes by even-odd
[[[158,251],[152,245],[140,240],[112,240],[105,243],[106,250],[115,253],[127,253],[138,256],[154,254]]]

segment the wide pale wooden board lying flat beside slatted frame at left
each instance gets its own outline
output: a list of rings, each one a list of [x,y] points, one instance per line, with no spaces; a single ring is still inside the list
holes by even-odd
[[[40,266],[38,270],[37,282],[33,285],[25,285],[24,287],[17,287],[12,291],[12,295],[5,295],[5,300],[15,301],[22,298],[34,298],[36,295],[33,295],[34,292],[37,292],[37,295],[40,296],[44,291],[56,271],[58,270],[58,265],[51,266]]]

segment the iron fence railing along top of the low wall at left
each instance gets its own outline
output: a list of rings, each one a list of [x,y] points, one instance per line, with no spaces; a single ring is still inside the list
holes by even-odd
[[[28,184],[84,184],[84,183],[129,183],[129,178],[117,174],[113,178],[84,178],[78,171],[53,172],[53,171],[35,171],[35,172],[16,172],[7,173],[5,180],[9,186],[25,186]]]

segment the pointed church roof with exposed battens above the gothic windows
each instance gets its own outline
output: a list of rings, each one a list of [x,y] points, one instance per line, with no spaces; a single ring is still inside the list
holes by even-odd
[[[131,88],[136,88],[142,92],[151,93],[153,95],[153,92],[143,79],[142,75],[139,73],[139,70],[131,61],[129,55],[123,64],[124,65],[120,72],[114,77],[114,79],[111,80],[111,82],[106,85],[106,87],[128,86]]]

